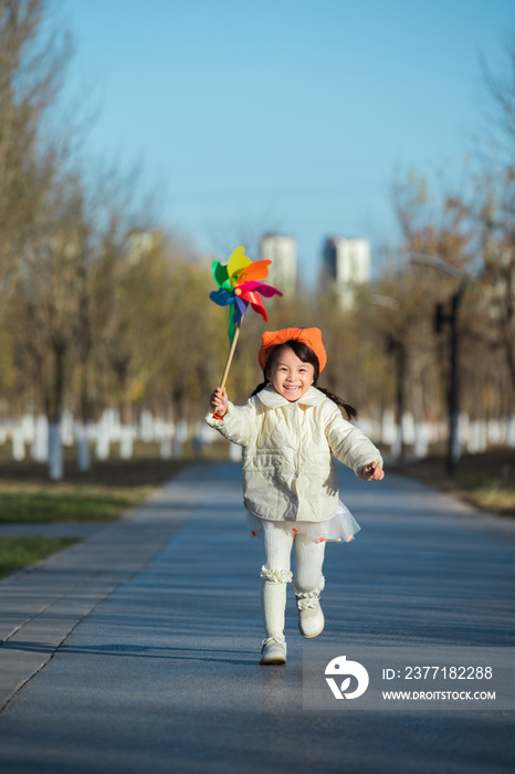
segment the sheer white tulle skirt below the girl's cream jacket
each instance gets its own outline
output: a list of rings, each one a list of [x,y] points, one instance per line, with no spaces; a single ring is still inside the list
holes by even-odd
[[[336,515],[326,522],[274,522],[259,519],[248,511],[246,525],[250,536],[261,541],[265,531],[283,530],[306,535],[314,543],[349,543],[361,529],[341,500],[338,500]]]

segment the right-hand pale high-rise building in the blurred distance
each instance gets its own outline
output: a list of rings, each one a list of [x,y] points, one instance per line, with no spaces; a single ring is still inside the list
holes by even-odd
[[[341,306],[350,308],[356,285],[370,281],[370,243],[332,237],[325,243],[323,260],[325,284],[333,284]]]

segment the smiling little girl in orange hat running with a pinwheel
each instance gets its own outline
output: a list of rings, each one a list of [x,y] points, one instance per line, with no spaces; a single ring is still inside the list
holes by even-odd
[[[343,417],[356,410],[317,388],[327,362],[318,328],[264,333],[258,355],[264,381],[242,407],[225,389],[211,395],[208,425],[243,447],[243,501],[249,529],[263,543],[262,665],[286,663],[286,584],[293,579],[303,637],[324,629],[319,605],[326,542],[349,541],[360,529],[338,500],[333,456],[365,481],[380,481],[382,458]],[[290,569],[295,546],[294,574]]]

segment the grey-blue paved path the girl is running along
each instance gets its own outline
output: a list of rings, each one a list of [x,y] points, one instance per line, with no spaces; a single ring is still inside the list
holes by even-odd
[[[237,464],[191,468],[157,510],[112,527],[112,552],[139,530],[140,554],[99,585],[59,647],[38,634],[56,603],[27,611],[0,648],[0,667],[9,653],[22,660],[46,647],[53,656],[0,713],[2,774],[515,771],[515,713],[302,709],[303,650],[322,641],[515,646],[514,525],[413,481],[370,484],[341,471],[362,532],[328,546],[326,630],[303,640],[291,596],[288,663],[262,668],[261,547],[246,536],[239,481]],[[84,564],[102,535],[61,554],[69,595],[69,557]],[[39,576],[44,586],[45,572],[55,596],[52,563],[10,585]],[[81,580],[72,579],[76,594]]]

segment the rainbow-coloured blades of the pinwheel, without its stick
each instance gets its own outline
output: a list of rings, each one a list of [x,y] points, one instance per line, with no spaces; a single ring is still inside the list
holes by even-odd
[[[283,295],[276,287],[259,282],[267,276],[271,263],[272,261],[252,263],[250,258],[246,258],[244,248],[237,248],[225,266],[220,261],[213,261],[213,278],[219,290],[210,293],[209,297],[219,306],[231,306],[228,330],[231,343],[237,325],[241,322],[249,304],[254,312],[263,316],[265,323],[267,322],[266,310],[259,294],[265,299]]]

